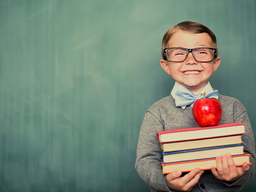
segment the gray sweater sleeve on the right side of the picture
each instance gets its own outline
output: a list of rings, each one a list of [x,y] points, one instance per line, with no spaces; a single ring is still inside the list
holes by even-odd
[[[242,185],[247,180],[253,178],[255,173],[255,165],[256,165],[256,155],[255,155],[255,143],[254,143],[254,134],[251,127],[251,123],[249,117],[247,115],[245,107],[237,100],[234,102],[233,108],[233,117],[234,122],[237,123],[246,123],[246,134],[242,135],[242,141],[245,144],[244,152],[251,154],[250,157],[250,169],[244,175],[242,175],[238,180],[234,182],[223,182],[228,186],[232,185]]]

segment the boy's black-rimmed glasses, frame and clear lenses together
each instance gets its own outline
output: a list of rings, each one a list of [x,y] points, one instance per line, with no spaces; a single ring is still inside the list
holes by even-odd
[[[192,52],[195,61],[197,62],[212,62],[214,56],[217,55],[216,48],[198,47],[198,48],[183,48],[183,47],[171,47],[165,48],[164,57],[169,62],[182,62],[187,59],[189,52]]]

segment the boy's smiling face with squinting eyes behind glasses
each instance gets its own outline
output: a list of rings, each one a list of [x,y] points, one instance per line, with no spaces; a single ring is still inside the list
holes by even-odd
[[[168,42],[168,48],[183,47],[213,48],[212,40],[207,33],[186,33],[177,31]],[[175,81],[185,86],[192,92],[201,91],[208,83],[211,75],[218,69],[221,58],[218,57],[212,62],[197,62],[191,52],[183,62],[169,62],[161,59],[160,64],[164,71],[171,75]]]

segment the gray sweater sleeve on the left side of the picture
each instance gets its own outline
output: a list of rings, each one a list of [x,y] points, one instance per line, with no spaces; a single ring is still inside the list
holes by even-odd
[[[159,118],[147,111],[140,128],[135,169],[142,180],[153,189],[171,192],[166,185],[166,176],[162,174],[161,150],[156,133],[163,129]]]

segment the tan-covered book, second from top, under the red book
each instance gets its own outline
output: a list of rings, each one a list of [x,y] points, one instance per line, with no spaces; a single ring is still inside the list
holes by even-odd
[[[216,137],[209,139],[200,139],[200,140],[189,140],[182,142],[167,142],[161,143],[161,150],[164,152],[171,152],[177,150],[187,150],[187,149],[197,149],[201,147],[214,147],[222,145],[234,145],[241,144],[242,137],[241,135],[228,136],[228,137]]]

